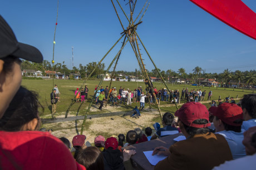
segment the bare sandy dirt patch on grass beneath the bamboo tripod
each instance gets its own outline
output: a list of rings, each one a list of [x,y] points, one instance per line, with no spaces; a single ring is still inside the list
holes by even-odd
[[[91,111],[96,108],[91,108]],[[94,142],[94,138],[98,135],[110,137],[112,135],[126,134],[129,130],[134,130],[136,127],[145,129],[151,127],[155,123],[152,120],[159,117],[159,112],[155,109],[146,109],[141,112],[141,116],[137,119],[130,117],[132,112],[118,111],[117,107],[104,107],[107,112],[104,114],[88,115],[86,127],[83,130],[83,135],[86,135],[86,141]],[[97,109],[99,111],[99,109]],[[123,116],[126,114],[126,116]],[[81,125],[84,116],[69,115],[65,119],[65,113],[61,116],[56,116],[56,120],[42,119],[43,127],[52,128],[52,135],[56,137],[66,137],[72,141],[73,136],[81,131]]]

